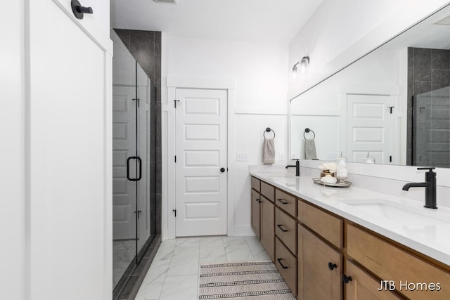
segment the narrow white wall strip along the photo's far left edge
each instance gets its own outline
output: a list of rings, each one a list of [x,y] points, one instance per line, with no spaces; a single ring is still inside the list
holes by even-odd
[[[0,298],[25,290],[24,1],[6,1],[0,19]]]

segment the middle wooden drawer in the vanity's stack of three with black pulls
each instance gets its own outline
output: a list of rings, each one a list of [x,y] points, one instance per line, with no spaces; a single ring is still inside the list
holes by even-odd
[[[278,207],[275,209],[275,234],[289,249],[297,254],[297,221]]]

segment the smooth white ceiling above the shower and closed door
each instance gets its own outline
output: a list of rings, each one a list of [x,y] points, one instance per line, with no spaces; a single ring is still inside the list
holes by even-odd
[[[111,0],[111,26],[176,37],[289,43],[323,0]]]

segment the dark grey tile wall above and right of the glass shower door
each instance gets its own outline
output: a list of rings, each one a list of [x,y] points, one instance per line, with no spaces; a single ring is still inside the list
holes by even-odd
[[[155,99],[150,103],[150,178],[155,178],[156,184],[150,185],[150,209],[156,211],[156,227],[152,234],[161,234],[161,32],[144,30],[114,29],[123,41],[128,51],[141,65],[150,81],[156,86]]]

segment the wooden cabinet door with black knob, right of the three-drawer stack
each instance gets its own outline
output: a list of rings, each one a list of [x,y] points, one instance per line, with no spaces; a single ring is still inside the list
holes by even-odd
[[[342,299],[342,254],[298,226],[297,299]]]

